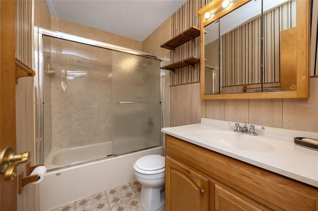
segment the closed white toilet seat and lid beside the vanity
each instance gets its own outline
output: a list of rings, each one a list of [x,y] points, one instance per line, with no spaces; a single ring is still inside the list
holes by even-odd
[[[160,155],[150,155],[139,158],[134,169],[143,174],[158,174],[164,172],[164,157]]]

